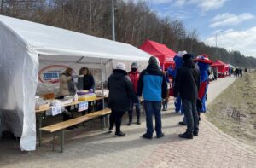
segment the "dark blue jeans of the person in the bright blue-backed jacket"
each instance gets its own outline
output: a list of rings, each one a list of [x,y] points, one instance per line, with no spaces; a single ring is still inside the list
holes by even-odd
[[[154,126],[152,115],[155,118],[155,131],[156,136],[162,135],[162,122],[161,122],[161,101],[144,101],[144,108],[146,111],[147,135],[153,136]]]

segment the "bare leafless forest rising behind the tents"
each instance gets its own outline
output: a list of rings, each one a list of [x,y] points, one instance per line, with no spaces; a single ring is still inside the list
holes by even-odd
[[[141,1],[115,0],[116,41],[139,47],[147,39],[174,51],[207,54],[236,67],[256,67],[256,59],[239,51],[208,46],[196,30],[187,30],[172,15],[160,18]],[[111,39],[111,0],[0,0],[0,14]]]

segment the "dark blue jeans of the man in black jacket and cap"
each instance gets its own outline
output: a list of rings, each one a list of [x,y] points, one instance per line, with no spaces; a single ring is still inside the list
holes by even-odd
[[[187,120],[187,132],[193,133],[198,132],[199,130],[199,119],[198,113],[196,110],[196,100],[189,101],[183,99],[183,110],[184,110],[184,119]]]

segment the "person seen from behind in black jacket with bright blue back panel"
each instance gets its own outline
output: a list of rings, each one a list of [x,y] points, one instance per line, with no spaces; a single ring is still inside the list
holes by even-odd
[[[160,63],[154,56],[149,58],[148,67],[143,70],[138,80],[137,96],[142,95],[147,124],[147,132],[143,134],[143,138],[152,139],[154,133],[152,115],[155,117],[156,137],[163,137],[160,114],[161,101],[168,99],[168,91],[165,75],[160,71]]]

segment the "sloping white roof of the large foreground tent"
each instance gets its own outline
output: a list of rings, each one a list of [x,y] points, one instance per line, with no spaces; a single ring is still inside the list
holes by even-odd
[[[148,61],[151,55],[130,44],[96,38],[79,32],[46,26],[31,21],[0,15],[0,26],[5,26],[28,49],[40,55],[40,60],[55,61]],[[58,55],[56,58],[53,55]],[[73,57],[73,58],[71,58]],[[88,59],[90,58],[90,59]],[[67,60],[65,60],[67,59]]]

